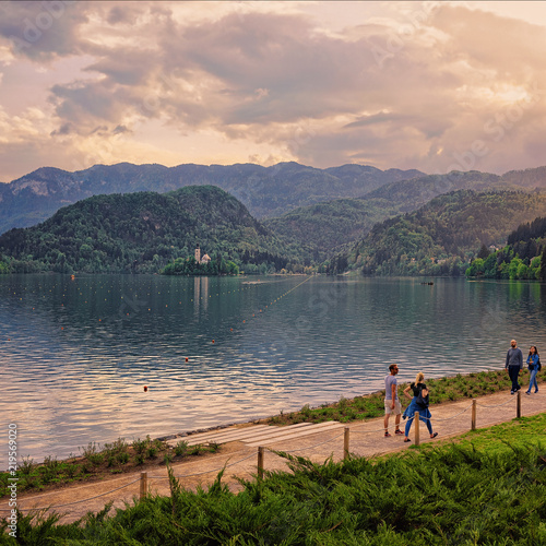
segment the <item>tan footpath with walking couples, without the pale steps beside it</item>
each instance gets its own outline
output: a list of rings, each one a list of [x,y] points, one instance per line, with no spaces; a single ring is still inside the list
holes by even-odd
[[[544,384],[544,382],[542,384]],[[537,414],[544,414],[546,412],[545,397],[546,392],[534,399],[532,396],[523,396],[522,416],[531,418]],[[485,399],[486,400],[483,400],[482,404],[478,403],[479,406],[487,408],[478,408],[478,429],[489,428],[494,425],[514,420],[515,397],[510,395],[507,396],[505,391],[498,391],[490,395],[486,395]],[[507,403],[510,405],[507,406]],[[470,412],[465,413],[468,406],[470,400],[459,400],[432,405],[432,423],[435,430],[439,430],[440,436],[436,440],[430,440],[428,435],[425,434],[425,436],[422,437],[422,444],[430,442],[430,447],[432,447],[434,444],[440,446],[446,442],[456,442],[458,440],[455,438],[471,432],[471,414]],[[453,417],[455,420],[450,420],[449,424],[442,423]],[[366,459],[382,458],[389,454],[403,453],[407,448],[414,446],[413,442],[410,444],[404,443],[402,437],[393,436],[392,438],[383,438],[381,430],[378,431],[378,429],[382,428],[382,418],[369,419],[368,423],[353,422],[347,425],[352,431],[351,453],[355,456],[364,456]],[[415,429],[412,427],[412,438],[414,434]],[[272,472],[287,471],[286,461],[278,458],[275,450],[287,453],[295,450],[298,456],[304,456],[318,464],[332,456],[334,460],[341,460],[343,459],[343,439],[339,438],[339,430],[331,430],[318,432],[311,437],[307,436],[300,439],[288,440],[284,443],[276,443],[271,448],[265,448],[265,468]],[[257,448],[251,448],[240,441],[232,441],[223,443],[222,449],[216,453],[205,453],[204,456],[174,461],[171,468],[177,477],[181,479],[181,484],[185,488],[194,490],[199,487],[206,488],[210,486],[217,479],[218,472],[225,468],[226,465],[235,465],[236,467],[225,474],[223,483],[228,485],[233,491],[237,491],[239,490],[239,483],[236,476],[245,479],[256,478],[256,454]],[[61,508],[61,512],[64,522],[75,521],[84,517],[90,510],[95,512],[100,511],[108,500],[115,500],[115,508],[122,508],[124,502],[130,502],[131,499],[138,497],[138,483],[123,492],[119,492],[118,489],[130,486],[135,480],[138,482],[142,473],[147,473],[149,479],[152,479],[152,494],[157,491],[157,494],[161,495],[169,495],[166,465],[165,463],[156,461],[155,463],[146,463],[122,474],[94,476],[93,479],[57,484],[41,490],[20,490],[19,501],[22,502],[21,508],[25,513],[26,510],[32,507],[48,506],[55,509],[74,503],[75,506],[69,511]],[[105,497],[105,495],[109,495],[109,497]],[[85,502],[84,505],[80,505],[79,502],[82,502],[83,499],[94,500],[91,503]],[[7,502],[8,498],[5,496],[0,498],[1,508],[3,508]]]

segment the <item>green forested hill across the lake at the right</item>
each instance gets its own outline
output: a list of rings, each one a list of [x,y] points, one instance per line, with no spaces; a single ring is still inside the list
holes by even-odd
[[[546,214],[546,193],[459,190],[387,219],[332,262],[373,275],[459,275],[482,245],[503,246],[520,224]]]

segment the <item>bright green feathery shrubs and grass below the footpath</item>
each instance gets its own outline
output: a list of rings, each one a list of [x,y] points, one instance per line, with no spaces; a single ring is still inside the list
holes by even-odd
[[[82,521],[19,519],[19,543],[71,545],[539,545],[546,544],[546,415],[376,460],[316,464],[293,473],[191,492],[171,476],[150,497]],[[510,439],[510,444],[503,440]],[[478,449],[482,446],[487,449]]]

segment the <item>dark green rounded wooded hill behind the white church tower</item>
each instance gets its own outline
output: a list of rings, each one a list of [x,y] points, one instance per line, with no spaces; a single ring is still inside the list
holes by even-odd
[[[12,259],[15,271],[158,272],[192,257],[197,244],[213,260],[250,269],[281,269],[287,261],[283,244],[213,186],[95,195],[38,226],[3,234],[0,254]]]

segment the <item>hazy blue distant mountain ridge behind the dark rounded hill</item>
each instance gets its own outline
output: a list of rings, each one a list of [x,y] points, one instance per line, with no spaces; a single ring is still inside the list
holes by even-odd
[[[0,234],[43,222],[61,206],[97,194],[156,191],[185,186],[217,186],[258,218],[339,198],[361,197],[385,183],[423,176],[419,170],[380,170],[364,165],[319,169],[298,163],[272,167],[236,165],[95,165],[69,173],[44,167],[11,183],[0,183]]]

